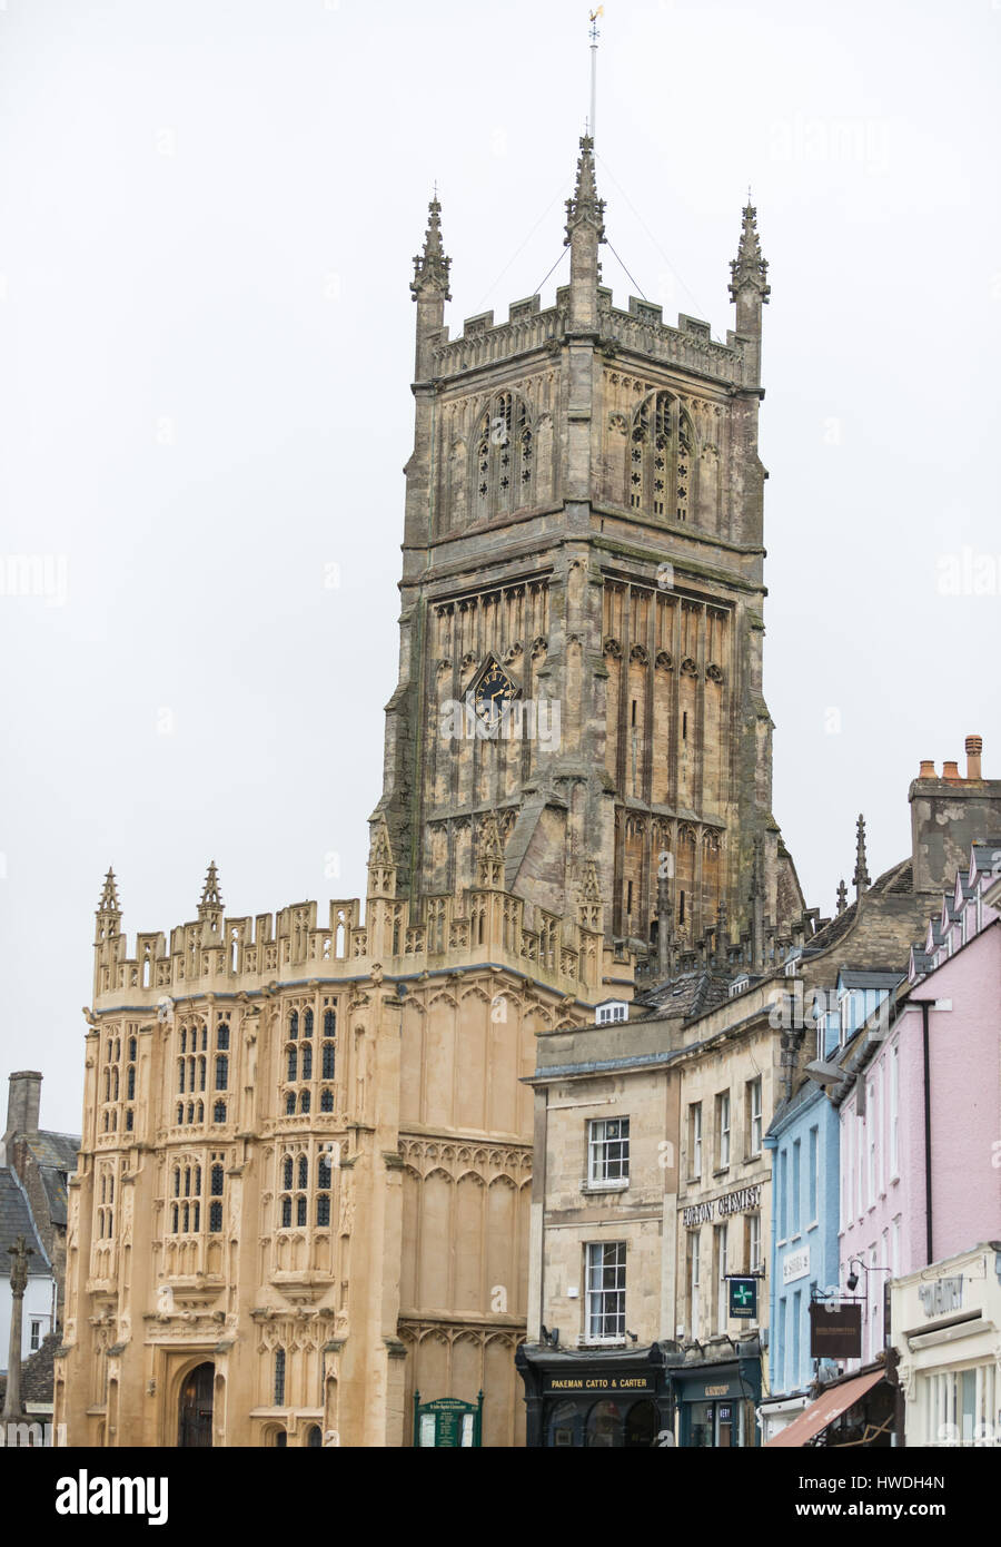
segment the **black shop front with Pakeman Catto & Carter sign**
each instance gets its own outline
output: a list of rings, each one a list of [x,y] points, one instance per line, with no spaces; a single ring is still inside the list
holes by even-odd
[[[650,1450],[673,1443],[671,1344],[554,1349],[521,1344],[526,1445],[540,1450]]]

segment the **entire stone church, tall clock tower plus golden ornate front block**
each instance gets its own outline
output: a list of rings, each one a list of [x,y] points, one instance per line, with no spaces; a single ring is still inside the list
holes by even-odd
[[[401,674],[368,890],[130,942],[97,907],[56,1422],[71,1445],[517,1445],[537,1038],[801,911],[770,814],[753,210],[727,343],[569,285],[444,328],[416,258]],[[656,947],[656,948],[654,948]]]

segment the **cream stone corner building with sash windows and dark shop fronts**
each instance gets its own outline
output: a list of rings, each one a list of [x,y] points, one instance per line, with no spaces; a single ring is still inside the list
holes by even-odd
[[[681,973],[664,1007],[538,1041],[518,1351],[531,1445],[757,1440],[770,1230],[763,1137],[783,1041],[764,985],[732,999],[729,981]],[[729,1275],[753,1279],[753,1315],[730,1316]]]

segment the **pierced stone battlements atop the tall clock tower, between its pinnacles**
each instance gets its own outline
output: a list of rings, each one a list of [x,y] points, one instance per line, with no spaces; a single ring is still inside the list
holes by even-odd
[[[727,336],[727,343],[716,343],[709,323],[685,312],[679,312],[678,326],[671,328],[661,306],[636,295],[630,295],[628,311],[622,311],[613,306],[606,286],[599,286],[597,302],[605,353],[625,350],[733,387],[753,385],[744,347],[735,334]],[[565,285],[555,292],[555,305],[545,311],[540,297],[529,295],[511,303],[507,322],[495,323],[494,312],[484,311],[467,317],[456,339],[449,339],[449,330],[441,328],[432,345],[433,376],[436,381],[463,376],[535,350],[555,350],[566,339],[568,319],[569,286]]]

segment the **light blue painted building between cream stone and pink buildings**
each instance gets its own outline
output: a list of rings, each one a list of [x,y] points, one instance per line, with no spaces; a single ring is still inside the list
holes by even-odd
[[[840,972],[837,987],[815,1004],[815,1049],[822,1063],[839,1057],[856,1030],[899,981],[894,973]],[[805,1078],[783,1101],[764,1137],[772,1154],[772,1241],[769,1253],[769,1394],[758,1408],[767,1443],[809,1403],[818,1377],[837,1374],[809,1352],[809,1306],[839,1292],[840,1118],[823,1084]]]

